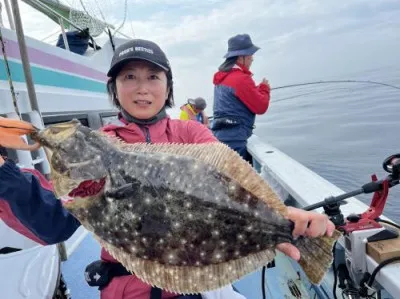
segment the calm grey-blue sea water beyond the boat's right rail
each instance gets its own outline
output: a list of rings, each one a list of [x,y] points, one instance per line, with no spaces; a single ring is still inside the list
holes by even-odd
[[[329,79],[400,87],[400,67]],[[364,83],[291,87],[272,91],[254,133],[348,192],[370,181],[373,173],[387,175],[383,160],[400,153],[399,113],[400,89]],[[372,194],[357,198],[369,204]],[[384,214],[400,222],[400,185],[390,189]]]

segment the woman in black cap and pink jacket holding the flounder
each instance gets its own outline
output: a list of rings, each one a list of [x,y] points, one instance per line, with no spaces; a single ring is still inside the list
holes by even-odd
[[[107,75],[110,78],[107,83],[107,90],[111,100],[119,108],[120,114],[117,123],[102,128],[104,133],[132,144],[207,143],[211,145],[217,143],[212,133],[200,123],[173,120],[167,115],[166,108],[172,107],[174,104],[172,71],[165,53],[155,43],[135,39],[121,45],[115,51]],[[0,132],[2,133],[0,145],[16,149],[29,149],[31,146],[23,144],[18,136],[21,135],[21,132],[10,133],[12,128],[18,127],[18,124],[14,126],[14,123],[10,125],[9,122],[10,120],[0,119],[0,130],[2,130]],[[20,128],[22,126],[26,133],[31,133],[34,130],[34,128],[24,128],[25,125],[19,126]],[[8,128],[5,129],[5,127]],[[54,130],[52,133],[55,133]],[[81,132],[81,134],[86,133],[84,130]],[[37,140],[43,141],[42,145],[45,147],[50,146],[50,143],[44,137]],[[236,156],[232,157],[236,159]],[[52,160],[52,163],[55,163],[54,160]],[[57,186],[54,179],[53,182],[54,186]],[[74,197],[73,195],[79,194],[83,197],[85,192],[90,192],[87,190],[99,188],[99,184],[101,184],[99,180],[84,181],[79,185],[79,190],[74,189],[69,195]],[[158,194],[157,192],[160,191],[153,190],[152,192]],[[118,197],[115,194],[114,196]],[[64,206],[67,205],[68,200],[68,198],[64,198]],[[21,171],[12,161],[4,162],[0,158],[0,204],[2,202],[10,207],[8,216],[6,216],[8,221],[5,222],[14,229],[19,229],[28,237],[41,240],[42,244],[54,244],[67,240],[80,225],[77,220],[77,218],[80,218],[75,218],[63,208],[61,201],[57,200],[51,192],[51,186],[39,173]],[[279,204],[274,202],[274,205]],[[285,218],[294,223],[293,236],[295,237],[315,238],[324,235],[330,237],[334,232],[334,225],[324,215],[295,208],[286,209],[284,207],[283,210],[285,211],[283,213]],[[0,215],[2,214],[0,213]],[[189,218],[190,215],[188,214]],[[107,225],[106,221],[108,221],[107,217],[103,222]],[[287,238],[287,240],[290,241],[290,238]],[[277,244],[276,248],[296,260],[300,259],[300,251],[288,242]],[[143,258],[146,259],[145,256]],[[107,267],[107,265],[110,265],[114,269],[115,266],[119,267],[119,270],[125,269],[124,266],[126,267],[125,264],[124,266],[119,264],[104,248],[102,249],[101,259],[100,264],[92,264],[91,266]],[[123,273],[123,275],[113,277],[100,287],[102,299],[148,299],[151,294],[163,299],[184,298],[177,293],[196,293],[193,290],[197,290],[189,287],[179,292],[174,291],[172,287],[164,288],[161,285],[161,288],[172,291],[163,290],[160,295],[160,290],[157,291],[156,288],[152,288],[150,284],[143,282],[136,275],[131,275],[128,271],[119,271],[119,273]],[[89,280],[91,280],[91,277],[89,277]],[[91,282],[89,281],[89,284]],[[150,282],[152,282],[151,279]],[[159,285],[158,283],[154,284]],[[209,289],[204,289],[204,291],[207,290]],[[158,295],[155,295],[157,293]],[[236,295],[238,294],[232,291],[227,296],[234,298]],[[201,298],[199,296],[197,298]],[[196,298],[196,296],[187,296],[187,298]]]

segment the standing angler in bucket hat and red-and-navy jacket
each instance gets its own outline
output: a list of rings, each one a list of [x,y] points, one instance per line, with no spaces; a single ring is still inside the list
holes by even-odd
[[[211,130],[217,139],[251,163],[247,139],[252,135],[256,114],[269,106],[270,86],[264,78],[256,85],[250,72],[253,55],[260,48],[248,34],[228,40],[225,61],[214,74],[214,107]]]

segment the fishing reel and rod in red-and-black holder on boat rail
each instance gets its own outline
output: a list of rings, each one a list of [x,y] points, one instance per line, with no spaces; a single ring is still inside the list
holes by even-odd
[[[381,222],[386,221],[379,217],[385,208],[389,189],[399,184],[400,153],[387,157],[382,167],[389,173],[386,178],[378,180],[373,174],[371,181],[360,189],[336,197],[328,197],[304,208],[309,211],[323,207],[336,229],[343,233],[343,243],[340,244],[341,246],[335,246],[334,249],[334,267],[339,278],[339,288],[344,294],[351,294],[351,298],[370,298],[368,287],[369,289],[372,287],[372,282],[368,281],[367,285],[365,281],[365,277],[369,275],[366,269],[366,242],[393,239],[399,235],[396,230],[382,226]],[[340,208],[343,201],[368,193],[373,193],[369,208],[362,214],[350,214],[345,219]]]

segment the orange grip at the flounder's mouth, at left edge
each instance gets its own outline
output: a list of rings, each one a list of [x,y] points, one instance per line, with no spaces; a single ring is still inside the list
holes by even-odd
[[[31,134],[37,129],[30,123],[0,117],[0,146],[19,150],[37,150],[39,144],[29,145],[21,137],[26,134]]]

